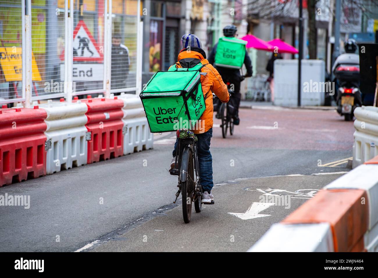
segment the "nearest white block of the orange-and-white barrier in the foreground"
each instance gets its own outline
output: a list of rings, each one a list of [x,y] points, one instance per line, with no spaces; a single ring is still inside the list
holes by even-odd
[[[331,227],[319,224],[274,224],[248,252],[333,252]]]

